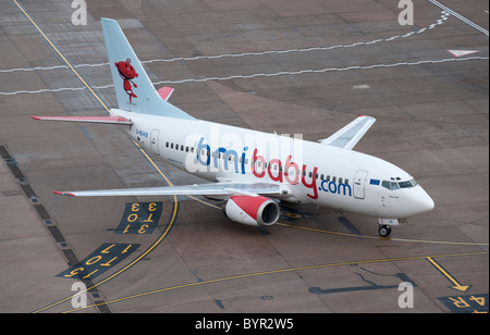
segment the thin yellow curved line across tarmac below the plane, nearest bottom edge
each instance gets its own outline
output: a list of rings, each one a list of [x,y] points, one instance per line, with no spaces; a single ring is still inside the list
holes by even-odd
[[[161,294],[170,290],[175,290],[180,288],[186,288],[186,287],[193,287],[193,286],[199,286],[199,285],[207,285],[207,284],[213,284],[213,283],[220,283],[220,282],[226,282],[226,281],[233,281],[233,280],[243,280],[243,278],[249,278],[249,277],[256,277],[261,275],[270,275],[270,274],[280,274],[280,273],[287,273],[287,272],[294,272],[294,271],[305,271],[305,270],[316,270],[316,269],[326,269],[326,268],[333,268],[333,266],[343,266],[343,265],[357,265],[357,264],[369,264],[369,263],[382,263],[382,262],[396,262],[396,261],[408,261],[408,260],[421,260],[430,258],[448,258],[448,257],[464,257],[464,256],[478,256],[478,255],[488,255],[486,251],[481,252],[462,252],[462,253],[446,253],[446,255],[432,255],[432,256],[414,256],[414,257],[400,257],[400,258],[388,258],[388,259],[375,259],[375,260],[364,260],[364,261],[350,261],[350,262],[340,262],[340,263],[328,263],[328,264],[319,264],[319,265],[308,265],[308,266],[298,266],[298,268],[287,268],[287,269],[281,269],[281,270],[271,270],[271,271],[264,271],[264,272],[255,272],[255,273],[248,273],[248,274],[241,274],[241,275],[233,275],[222,278],[215,278],[215,280],[208,280],[208,281],[199,281],[199,282],[193,282],[182,285],[175,285],[171,287],[149,290],[140,294],[135,294],[122,298],[117,298],[112,300],[105,301],[102,303],[95,303],[87,306],[86,308],[78,308],[78,309],[71,309],[64,311],[64,313],[81,311],[87,308],[109,305],[109,303],[115,303],[121,302],[130,299],[135,298],[142,298],[145,296]]]

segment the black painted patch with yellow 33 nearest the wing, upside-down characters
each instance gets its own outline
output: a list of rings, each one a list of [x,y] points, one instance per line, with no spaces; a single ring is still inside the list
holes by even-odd
[[[127,202],[114,234],[151,234],[162,209],[163,202]]]

